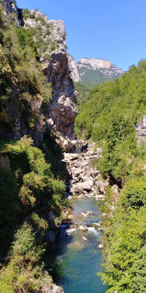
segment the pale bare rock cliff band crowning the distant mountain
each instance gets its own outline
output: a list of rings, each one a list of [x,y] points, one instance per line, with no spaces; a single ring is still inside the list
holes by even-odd
[[[102,68],[101,72],[104,74],[124,73],[121,68],[113,65],[109,60],[100,58],[80,58],[78,65],[79,68],[86,67],[93,70]]]

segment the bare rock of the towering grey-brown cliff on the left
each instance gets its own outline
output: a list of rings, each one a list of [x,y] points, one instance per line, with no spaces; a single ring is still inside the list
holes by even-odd
[[[6,13],[14,12],[15,4],[11,4],[10,0],[3,0]],[[15,13],[15,12],[14,12]],[[36,146],[42,141],[46,128],[51,125],[54,132],[59,132],[59,141],[65,147],[71,148],[74,145],[74,119],[77,116],[76,96],[72,84],[69,81],[69,66],[65,49],[65,26],[61,20],[48,20],[48,18],[38,12],[30,11],[35,18],[19,19],[25,28],[41,25],[43,31],[43,39],[46,42],[54,42],[54,48],[42,50],[40,62],[42,71],[46,76],[47,82],[51,82],[53,89],[53,98],[49,109],[44,109],[41,100],[32,100],[31,107],[39,113],[38,119],[33,129],[25,127],[22,123],[22,108],[17,98],[19,89],[13,86],[13,93],[7,105],[7,108],[0,113],[0,133],[4,137],[18,139],[24,134],[30,134],[34,139]],[[16,19],[18,13],[16,10]],[[41,23],[39,18],[44,19]],[[49,25],[49,32],[47,28]],[[17,26],[18,27],[18,26]],[[34,37],[35,41],[35,37]],[[27,87],[27,85],[26,85]],[[27,89],[29,91],[29,89]]]

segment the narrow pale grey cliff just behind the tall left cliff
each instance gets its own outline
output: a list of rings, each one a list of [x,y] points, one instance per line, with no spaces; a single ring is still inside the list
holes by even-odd
[[[68,58],[68,68],[69,75],[74,82],[81,82],[81,77],[79,74],[79,67],[76,60],[69,54],[67,54]]]

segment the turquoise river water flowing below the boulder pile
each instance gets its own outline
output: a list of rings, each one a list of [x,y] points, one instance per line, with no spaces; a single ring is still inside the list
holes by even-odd
[[[78,225],[85,225],[88,231],[68,229],[61,226],[56,251],[46,253],[47,268],[53,276],[53,281],[63,287],[65,293],[104,293],[106,286],[102,284],[97,272],[102,271],[102,250],[97,248],[102,236],[102,230],[92,227],[93,222],[101,219],[100,207],[102,203],[94,198],[77,199],[73,195],[69,200],[73,221]],[[87,218],[80,215],[86,210],[94,212]],[[67,236],[71,233],[72,236]],[[89,241],[83,241],[85,236]]]

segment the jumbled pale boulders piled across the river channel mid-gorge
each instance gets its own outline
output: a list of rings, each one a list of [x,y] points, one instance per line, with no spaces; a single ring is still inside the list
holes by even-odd
[[[84,192],[93,192],[93,197],[96,200],[104,198],[109,185],[108,179],[102,179],[100,171],[90,166],[90,159],[101,157],[101,152],[102,149],[98,148],[93,154],[64,154],[63,161],[69,165],[71,172],[66,185],[69,194],[80,195],[84,194]],[[90,194],[86,196],[91,197]]]

